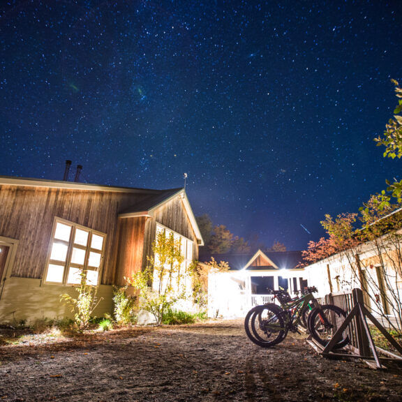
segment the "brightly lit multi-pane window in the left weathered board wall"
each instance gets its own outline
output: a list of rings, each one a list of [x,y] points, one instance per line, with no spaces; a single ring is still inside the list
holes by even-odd
[[[105,234],[67,221],[57,221],[45,282],[77,285],[82,274],[97,285]]]

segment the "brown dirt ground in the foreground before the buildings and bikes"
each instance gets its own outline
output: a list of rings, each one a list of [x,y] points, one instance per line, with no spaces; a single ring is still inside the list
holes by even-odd
[[[0,348],[1,401],[401,401],[402,367],[324,359],[290,335],[254,345],[242,320],[117,330]]]

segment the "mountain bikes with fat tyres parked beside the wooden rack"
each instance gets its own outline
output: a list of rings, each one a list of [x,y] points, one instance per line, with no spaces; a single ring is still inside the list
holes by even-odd
[[[281,343],[288,332],[299,332],[300,325],[308,329],[315,341],[327,345],[345,320],[346,313],[332,304],[321,306],[313,292],[317,289],[306,288],[300,297],[292,299],[285,290],[271,290],[279,305],[268,303],[248,311],[244,320],[248,338],[263,348],[269,348]],[[335,348],[343,348],[348,343],[348,334],[343,332]]]

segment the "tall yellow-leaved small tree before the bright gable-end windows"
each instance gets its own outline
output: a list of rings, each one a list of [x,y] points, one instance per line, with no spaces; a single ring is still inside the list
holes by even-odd
[[[140,304],[161,325],[163,315],[177,301],[186,299],[188,270],[183,269],[180,241],[170,233],[158,232],[152,244],[154,255],[148,258],[144,271],[137,272],[128,280],[140,292]]]

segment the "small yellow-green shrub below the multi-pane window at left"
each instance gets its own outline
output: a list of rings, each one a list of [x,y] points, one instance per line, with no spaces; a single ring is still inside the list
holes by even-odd
[[[74,313],[75,326],[79,331],[83,331],[89,326],[91,314],[94,312],[101,300],[103,300],[103,297],[101,297],[101,299],[96,297],[98,288],[87,283],[86,271],[82,271],[80,276],[80,286],[74,287],[77,292],[77,297],[72,297],[65,293],[64,295],[61,295],[61,301],[64,301],[71,307],[71,313]]]

